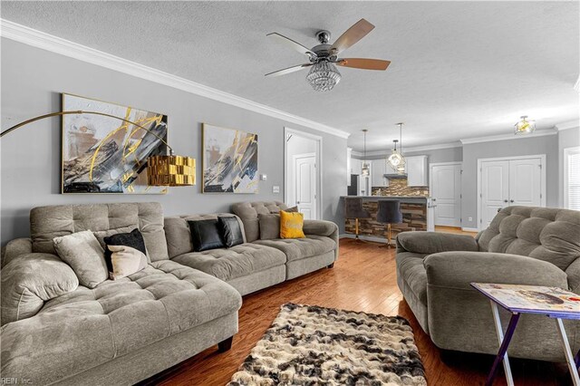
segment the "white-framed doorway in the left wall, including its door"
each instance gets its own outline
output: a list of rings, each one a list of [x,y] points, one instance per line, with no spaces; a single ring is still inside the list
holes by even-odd
[[[285,204],[322,218],[322,137],[285,128]]]

